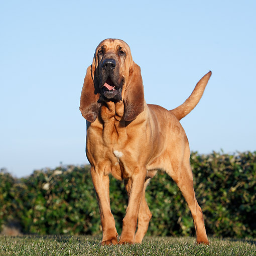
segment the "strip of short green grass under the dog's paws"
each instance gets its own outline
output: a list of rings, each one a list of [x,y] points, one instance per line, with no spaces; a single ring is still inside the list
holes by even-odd
[[[210,245],[191,237],[146,237],[142,244],[100,246],[92,236],[0,236],[4,255],[256,255],[256,239],[210,238]]]

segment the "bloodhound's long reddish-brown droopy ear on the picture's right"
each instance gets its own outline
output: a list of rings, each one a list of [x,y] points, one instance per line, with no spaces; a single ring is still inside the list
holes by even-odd
[[[125,121],[135,119],[144,110],[144,88],[141,68],[135,62],[133,62],[133,67],[130,68],[123,104],[123,119]]]

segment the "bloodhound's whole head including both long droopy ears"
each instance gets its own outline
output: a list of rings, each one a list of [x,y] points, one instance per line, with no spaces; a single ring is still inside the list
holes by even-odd
[[[133,120],[144,109],[144,89],[140,67],[134,63],[130,47],[119,39],[103,40],[87,69],[80,110],[93,122],[102,102],[124,104],[124,120]]]

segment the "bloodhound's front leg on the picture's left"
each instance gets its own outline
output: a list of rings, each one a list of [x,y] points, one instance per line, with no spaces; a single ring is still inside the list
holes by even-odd
[[[91,167],[91,177],[96,192],[100,221],[102,226],[102,241],[104,244],[117,244],[117,231],[114,217],[110,209],[109,177],[97,168]]]

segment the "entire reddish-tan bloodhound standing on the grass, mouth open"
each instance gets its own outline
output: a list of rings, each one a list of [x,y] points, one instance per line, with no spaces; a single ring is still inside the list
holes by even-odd
[[[145,190],[160,169],[182,191],[197,243],[209,243],[193,188],[189,144],[179,120],[197,105],[210,76],[211,71],[183,104],[167,110],[146,103],[141,69],[125,42],[106,39],[97,46],[84,79],[80,111],[87,120],[86,156],[99,205],[102,245],[142,241],[152,217]],[[129,197],[119,241],[110,209],[109,174],[124,180]]]

